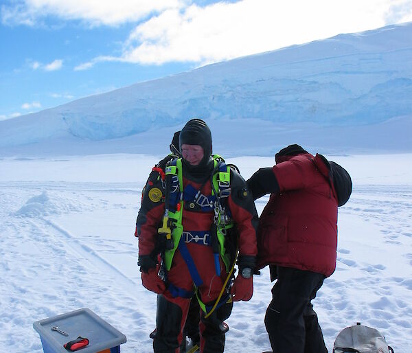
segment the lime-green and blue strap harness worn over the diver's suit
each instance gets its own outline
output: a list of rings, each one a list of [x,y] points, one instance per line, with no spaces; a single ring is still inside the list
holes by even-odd
[[[228,296],[222,297],[227,287],[227,282],[233,272],[231,255],[225,249],[225,236],[227,229],[232,228],[234,223],[231,219],[227,198],[231,192],[230,188],[230,167],[225,164],[222,157],[214,155],[214,169],[211,173],[211,195],[205,196],[201,190],[196,190],[192,185],[183,188],[182,160],[174,159],[165,168],[165,214],[163,222],[158,229],[160,236],[165,236],[165,251],[163,256],[163,266],[165,273],[170,270],[176,249],[179,251],[187,264],[190,275],[194,282],[194,292],[186,291],[169,283],[168,290],[174,297],[190,298],[194,294],[198,298],[199,304],[204,312],[211,314],[216,307],[227,301]],[[163,177],[163,176],[162,176]],[[202,189],[202,187],[201,187]],[[201,231],[183,230],[183,212],[185,209],[198,212],[214,212],[211,229]],[[198,274],[192,256],[187,249],[186,243],[196,242],[205,246],[211,246],[214,253],[214,265],[216,275],[220,276],[220,261],[225,264],[228,274],[227,280],[222,288],[220,296],[213,307],[208,307],[201,301],[197,288],[203,284]],[[235,256],[236,258],[236,256]],[[235,259],[236,261],[236,259]]]

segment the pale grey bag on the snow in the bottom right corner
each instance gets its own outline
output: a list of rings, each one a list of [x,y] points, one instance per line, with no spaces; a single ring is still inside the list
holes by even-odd
[[[333,353],[393,353],[393,349],[378,330],[358,323],[339,332]]]

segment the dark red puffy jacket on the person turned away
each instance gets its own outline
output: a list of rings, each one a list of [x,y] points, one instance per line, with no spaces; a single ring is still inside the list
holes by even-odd
[[[267,264],[332,275],[336,267],[338,203],[321,155],[277,156],[271,194],[258,227],[258,268]]]

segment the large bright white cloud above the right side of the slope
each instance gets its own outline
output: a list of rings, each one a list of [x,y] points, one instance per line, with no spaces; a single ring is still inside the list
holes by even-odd
[[[411,0],[398,0],[402,18]],[[393,0],[243,0],[168,10],[135,27],[123,60],[141,64],[216,62],[385,23]],[[407,13],[407,14],[404,14]]]

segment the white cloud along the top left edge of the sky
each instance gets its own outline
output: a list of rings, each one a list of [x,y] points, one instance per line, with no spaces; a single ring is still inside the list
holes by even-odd
[[[187,0],[21,0],[3,5],[3,23],[35,25],[46,16],[80,20],[92,25],[119,25],[141,21],[168,8],[181,8]]]

